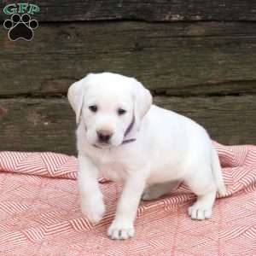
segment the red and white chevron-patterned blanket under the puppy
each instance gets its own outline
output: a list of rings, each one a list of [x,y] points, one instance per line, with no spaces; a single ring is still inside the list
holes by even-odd
[[[256,255],[256,146],[213,143],[227,194],[212,218],[189,218],[195,195],[182,184],[141,202],[136,235],[126,241],[106,235],[121,185],[99,179],[107,212],[93,225],[80,211],[74,156],[0,152],[0,256]]]

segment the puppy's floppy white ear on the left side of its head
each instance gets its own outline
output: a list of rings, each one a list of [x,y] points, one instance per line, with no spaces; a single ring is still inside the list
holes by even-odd
[[[67,91],[67,99],[73,108],[74,113],[76,113],[76,123],[79,124],[80,116],[83,108],[84,102],[84,93],[88,88],[88,78],[90,74],[87,75],[84,79],[79,80],[78,82],[73,83]]]

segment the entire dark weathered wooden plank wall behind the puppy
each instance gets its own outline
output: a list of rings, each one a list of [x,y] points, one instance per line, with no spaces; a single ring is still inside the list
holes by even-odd
[[[219,143],[256,143],[255,1],[33,3],[32,42],[0,29],[0,150],[76,154],[67,88],[102,71],[136,77]]]

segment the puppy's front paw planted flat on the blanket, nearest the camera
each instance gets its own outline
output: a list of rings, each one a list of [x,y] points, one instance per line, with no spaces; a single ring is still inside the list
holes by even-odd
[[[133,224],[114,221],[108,228],[108,236],[112,239],[127,239],[134,236]]]

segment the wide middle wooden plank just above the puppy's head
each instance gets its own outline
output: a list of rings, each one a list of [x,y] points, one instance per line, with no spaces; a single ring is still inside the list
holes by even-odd
[[[255,22],[61,23],[39,26],[32,42],[0,38],[0,96],[65,95],[102,71],[172,96],[256,92]]]

